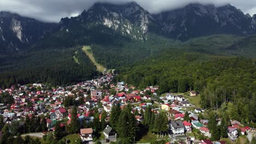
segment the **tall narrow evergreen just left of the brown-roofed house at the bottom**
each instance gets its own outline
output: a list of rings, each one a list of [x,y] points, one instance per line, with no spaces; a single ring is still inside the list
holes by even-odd
[[[77,117],[77,107],[74,106],[74,109],[71,113],[71,123],[69,124],[69,133],[75,134],[80,131],[80,121]]]

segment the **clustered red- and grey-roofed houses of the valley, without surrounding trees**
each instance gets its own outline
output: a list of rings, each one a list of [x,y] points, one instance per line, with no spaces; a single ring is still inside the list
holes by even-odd
[[[76,85],[67,87],[58,87],[49,89],[42,83],[33,83],[26,86],[12,86],[11,88],[0,89],[0,94],[9,93],[14,98],[13,104],[0,104],[0,112],[4,117],[4,123],[11,123],[14,120],[20,120],[27,115],[45,115],[49,117],[46,119],[48,130],[55,130],[54,125],[57,121],[67,119],[67,125],[71,122],[71,107],[65,107],[63,105],[64,100],[67,97],[75,98],[75,100],[83,99],[83,104],[77,107],[80,122],[93,122],[94,117],[91,115],[92,109],[98,106],[100,102],[102,108],[98,109],[99,112],[106,111],[106,122],[109,121],[109,114],[114,103],[120,103],[121,109],[128,103],[137,105],[132,107],[132,113],[141,112],[146,110],[149,105],[153,105],[152,96],[157,95],[159,89],[158,86],[149,86],[147,88],[138,90],[135,86],[128,86],[125,82],[118,82],[114,85],[112,83],[114,75],[106,74],[98,77],[94,80],[84,81],[77,83]],[[114,93],[108,87],[114,89]],[[191,91],[190,97],[195,97],[196,92]],[[172,93],[166,93],[165,97],[159,97],[162,103],[158,103],[160,106],[154,108],[155,113],[159,111],[165,111],[168,116],[170,133],[172,135],[182,135],[185,132],[190,133],[192,129],[199,129],[201,134],[211,137],[211,131],[207,128],[208,120],[199,119],[198,113],[204,110],[200,108],[194,109],[189,112],[190,121],[184,121],[186,107],[193,106],[188,100],[185,100],[183,95],[173,95]],[[101,115],[100,115],[101,116]],[[135,115],[138,123],[143,121],[142,115]],[[220,119],[218,119],[220,122]],[[238,137],[238,130],[242,135],[249,130],[248,127],[243,127],[237,121],[232,121],[231,126],[228,127],[227,133],[231,140],[235,140]],[[109,125],[102,131],[105,141],[115,141],[117,139],[117,133]],[[92,143],[93,140],[92,128],[80,129],[80,137],[85,143]],[[193,137],[191,137],[193,140]],[[202,143],[207,143],[205,140]]]

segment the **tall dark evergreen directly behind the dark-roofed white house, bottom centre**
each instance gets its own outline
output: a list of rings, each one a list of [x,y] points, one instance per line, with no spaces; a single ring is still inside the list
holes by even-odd
[[[119,116],[121,114],[121,109],[120,109],[120,106],[119,104],[115,104],[113,105],[111,111],[110,111],[110,119],[109,119],[109,123],[111,125],[111,127],[114,129],[114,130],[117,130],[117,123],[119,121]]]

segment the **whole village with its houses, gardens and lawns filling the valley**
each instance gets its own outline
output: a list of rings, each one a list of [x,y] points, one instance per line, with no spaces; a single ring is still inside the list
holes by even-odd
[[[100,107],[99,111],[107,113],[105,119],[109,122],[109,115],[114,104],[119,104],[121,109],[127,104],[131,104],[133,115],[137,123],[143,123],[143,113],[147,107],[156,113],[164,112],[168,117],[167,134],[159,136],[159,139],[168,140],[168,143],[202,143],[202,144],[224,144],[227,141],[211,141],[211,130],[207,125],[209,119],[205,117],[206,110],[191,104],[187,97],[199,97],[197,92],[190,91],[186,97],[184,94],[165,93],[158,95],[158,86],[148,86],[138,89],[125,82],[113,83],[114,74],[106,74],[95,80],[79,82],[76,85],[67,87],[49,88],[43,83],[33,83],[31,85],[14,85],[10,88],[0,90],[0,95],[8,94],[14,101],[11,104],[0,104],[3,123],[11,124],[14,121],[21,121],[27,116],[45,116],[47,130],[54,131],[58,121],[71,123],[72,105],[66,100],[75,97],[78,101],[77,117],[80,123],[94,121],[93,109]],[[101,105],[101,106],[99,106]],[[101,116],[101,115],[100,115]],[[64,120],[64,121],[63,121]],[[216,119],[218,125],[222,119]],[[249,140],[254,135],[254,128],[246,127],[236,119],[230,120],[230,125],[226,129],[229,141],[235,141],[238,137],[247,136]],[[19,127],[25,127],[20,123]],[[37,132],[37,130],[35,131]],[[25,133],[25,130],[24,130]],[[118,134],[115,129],[106,124],[102,131],[102,143],[116,141]],[[0,132],[2,136],[2,131]],[[83,143],[94,143],[94,129],[80,129],[79,137]],[[139,143],[139,142],[138,142]]]

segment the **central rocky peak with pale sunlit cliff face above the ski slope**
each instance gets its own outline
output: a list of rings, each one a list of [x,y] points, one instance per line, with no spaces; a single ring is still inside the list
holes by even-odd
[[[84,23],[88,28],[105,26],[134,40],[146,40],[150,25],[156,25],[152,15],[135,2],[121,5],[96,3],[78,17],[62,19],[61,29],[73,25],[74,20]]]

